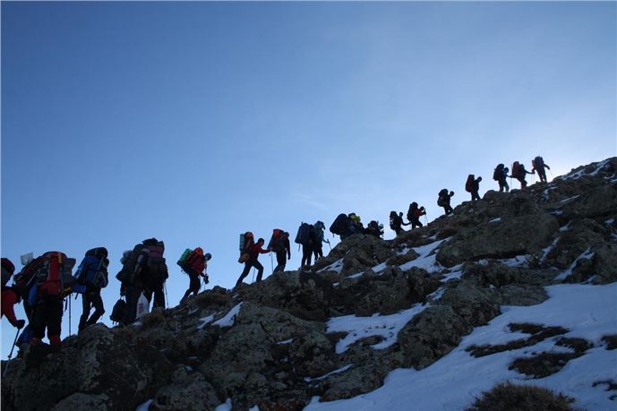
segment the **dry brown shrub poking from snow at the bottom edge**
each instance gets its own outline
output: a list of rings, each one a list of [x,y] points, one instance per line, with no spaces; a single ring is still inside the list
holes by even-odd
[[[484,392],[466,411],[574,411],[572,401],[551,390],[506,382]]]

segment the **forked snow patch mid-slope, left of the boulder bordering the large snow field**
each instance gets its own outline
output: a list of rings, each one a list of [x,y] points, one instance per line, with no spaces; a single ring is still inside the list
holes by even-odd
[[[371,317],[358,317],[356,315],[344,315],[334,317],[328,321],[328,333],[347,332],[347,336],[337,343],[337,354],[342,354],[347,347],[360,338],[381,336],[385,338],[380,343],[373,345],[374,349],[390,347],[397,341],[398,331],[418,313],[422,313],[428,305],[416,304],[411,308],[390,315],[373,314]]]

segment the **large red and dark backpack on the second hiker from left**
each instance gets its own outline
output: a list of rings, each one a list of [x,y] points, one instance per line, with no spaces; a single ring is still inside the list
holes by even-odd
[[[75,282],[71,271],[75,265],[74,258],[67,258],[64,253],[47,252],[37,271],[37,295],[60,295],[65,287]]]

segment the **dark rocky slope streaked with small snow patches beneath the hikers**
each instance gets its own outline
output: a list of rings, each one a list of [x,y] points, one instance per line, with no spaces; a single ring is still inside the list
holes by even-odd
[[[544,287],[562,282],[617,281],[616,218],[617,158],[525,191],[488,192],[395,240],[352,236],[312,271],[276,273],[236,292],[215,287],[138,326],[91,327],[42,364],[13,360],[2,406],[134,410],[152,399],[150,410],[161,411],[225,402],[282,410],[350,398],[395,368],[431,366],[502,305],[540,304]],[[381,325],[341,326],[368,318]],[[531,336],[523,345],[561,332],[510,326]],[[609,331],[606,349],[614,349]],[[564,344],[576,355],[561,363],[588,348]],[[508,347],[472,354],[496,349]],[[538,375],[560,369],[546,364]],[[525,372],[526,364],[513,366]]]

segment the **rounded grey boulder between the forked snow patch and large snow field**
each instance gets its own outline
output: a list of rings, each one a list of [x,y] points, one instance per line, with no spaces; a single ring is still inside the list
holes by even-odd
[[[398,332],[404,366],[417,369],[433,364],[458,346],[472,330],[448,305],[432,306],[417,314]]]

